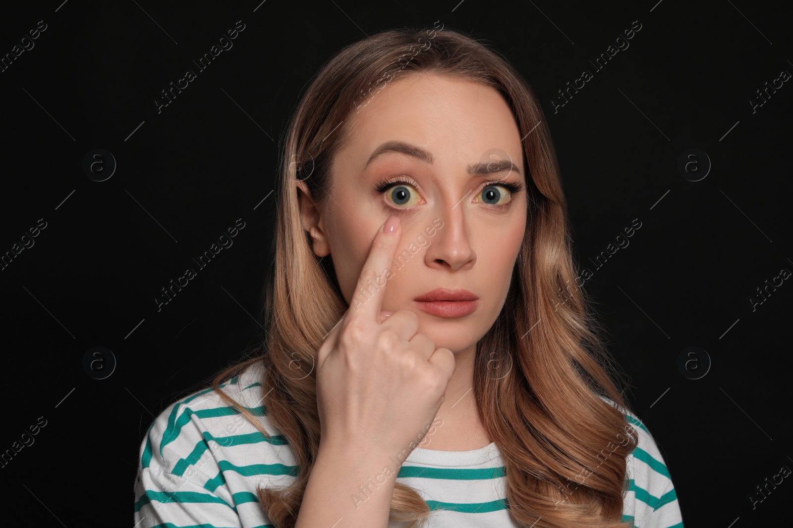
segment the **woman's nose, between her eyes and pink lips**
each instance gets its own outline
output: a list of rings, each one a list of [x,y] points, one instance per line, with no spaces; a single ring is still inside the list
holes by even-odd
[[[439,207],[436,218],[441,218],[442,227],[438,228],[424,254],[424,260],[430,268],[446,268],[456,272],[461,268],[470,268],[476,262],[477,253],[471,247],[469,226],[466,225],[470,218],[465,217],[464,200],[457,203],[445,200],[445,204]]]

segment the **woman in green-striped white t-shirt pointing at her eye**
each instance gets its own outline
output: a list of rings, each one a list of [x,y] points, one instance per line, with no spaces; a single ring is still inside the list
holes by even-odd
[[[326,63],[286,135],[266,340],[151,425],[136,526],[683,526],[542,123],[439,26]]]

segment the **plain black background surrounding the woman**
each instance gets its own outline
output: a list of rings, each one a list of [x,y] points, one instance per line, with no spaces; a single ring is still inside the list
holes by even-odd
[[[787,519],[789,478],[754,509],[749,495],[793,468],[793,285],[784,281],[755,310],[749,298],[793,271],[793,86],[754,112],[749,100],[793,72],[789,6],[17,2],[0,18],[0,54],[42,20],[35,47],[0,73],[0,253],[47,222],[0,271],[0,450],[47,420],[0,469],[8,514],[70,528],[131,521],[154,416],[259,340],[270,192],[301,90],[365,34],[440,21],[489,40],[542,102],[576,257],[594,273],[585,287],[630,375],[630,403],[666,458],[685,526]],[[193,59],[236,21],[245,29],[233,47],[158,113],[160,91],[197,70]],[[634,21],[642,29],[630,47],[596,71],[589,61]],[[594,78],[554,113],[557,90],[584,69]],[[95,148],[117,161],[108,180],[82,169]],[[712,163],[699,181],[677,169],[691,148]],[[158,311],[160,289],[237,218],[245,227],[232,247]],[[642,227],[630,245],[600,269],[589,264],[634,218]],[[108,378],[82,367],[94,346],[117,360]],[[703,378],[677,367],[689,346],[711,358]]]

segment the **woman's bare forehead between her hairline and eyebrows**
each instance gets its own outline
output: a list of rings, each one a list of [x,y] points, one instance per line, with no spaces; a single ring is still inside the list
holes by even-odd
[[[364,102],[348,118],[347,141],[337,154],[347,169],[362,169],[388,141],[419,146],[439,164],[467,165],[495,149],[523,167],[515,116],[489,86],[443,74],[410,74],[373,89]]]

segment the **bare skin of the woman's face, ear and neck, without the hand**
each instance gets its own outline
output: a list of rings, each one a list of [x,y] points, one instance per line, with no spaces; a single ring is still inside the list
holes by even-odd
[[[500,192],[497,203],[506,205],[498,208],[492,205],[495,198],[485,196],[494,184],[485,181],[526,184],[515,118],[504,99],[489,87],[422,73],[390,82],[361,112],[348,116],[347,125],[350,141],[333,160],[332,199],[327,207],[320,210],[305,183],[297,182],[302,222],[312,233],[313,251],[317,256],[331,256],[348,303],[354,298],[366,301],[354,288],[374,234],[390,215],[400,218],[397,255],[411,243],[419,246],[419,252],[401,267],[395,263],[393,275],[382,279],[382,310],[416,313],[419,332],[430,336],[435,348],[454,352],[456,360],[436,427],[420,446],[434,450],[486,446],[491,440],[473,401],[473,360],[477,341],[496,321],[508,294],[526,230],[527,195],[525,190],[511,194],[496,187]],[[389,141],[419,146],[431,154],[432,163],[386,152],[367,165],[374,150]],[[499,149],[498,158],[488,158],[493,149]],[[511,159],[515,169],[468,173],[469,164],[493,159]],[[408,203],[400,205],[400,196],[392,194],[403,184],[377,192],[379,181],[403,175],[418,183],[408,186]],[[436,218],[442,227],[429,237],[426,228],[433,227]],[[419,310],[413,299],[436,287],[464,288],[477,294],[477,310],[454,318]]]

